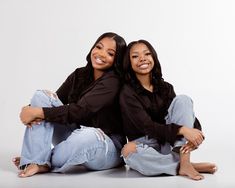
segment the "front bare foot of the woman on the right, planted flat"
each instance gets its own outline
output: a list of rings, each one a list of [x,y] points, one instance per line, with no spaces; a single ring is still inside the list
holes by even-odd
[[[204,176],[196,171],[191,163],[184,163],[180,165],[179,175],[188,176],[193,180],[202,180]]]

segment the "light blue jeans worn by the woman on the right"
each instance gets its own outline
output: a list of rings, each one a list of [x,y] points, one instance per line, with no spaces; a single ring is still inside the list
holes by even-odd
[[[186,95],[176,96],[165,117],[166,124],[175,123],[193,128],[195,115],[193,102]],[[136,153],[130,153],[124,158],[125,163],[132,169],[146,176],[160,174],[176,175],[179,166],[179,154],[172,151],[173,147],[166,143],[161,145],[156,139],[141,137],[135,140]],[[174,147],[186,143],[184,138],[177,140]]]

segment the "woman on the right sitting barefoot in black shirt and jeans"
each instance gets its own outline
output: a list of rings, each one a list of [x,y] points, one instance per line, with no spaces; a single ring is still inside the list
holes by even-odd
[[[203,179],[215,164],[191,163],[190,152],[204,140],[192,99],[176,95],[162,78],[157,53],[146,40],[133,41],[124,57],[125,82],[120,93],[124,132],[122,155],[143,175],[185,175]]]

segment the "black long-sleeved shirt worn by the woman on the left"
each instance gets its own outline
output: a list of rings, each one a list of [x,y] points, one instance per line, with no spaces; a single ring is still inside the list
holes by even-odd
[[[119,77],[113,71],[93,80],[86,68],[78,68],[56,92],[64,105],[43,108],[45,120],[96,127],[108,136],[125,137],[118,101],[120,87]]]

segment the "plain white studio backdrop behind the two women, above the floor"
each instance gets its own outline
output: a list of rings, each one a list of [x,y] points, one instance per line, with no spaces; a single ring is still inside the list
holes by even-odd
[[[1,0],[0,153],[20,152],[18,116],[34,91],[56,90],[107,31],[151,42],[164,79],[193,98],[207,149],[234,149],[234,10],[233,0]]]

